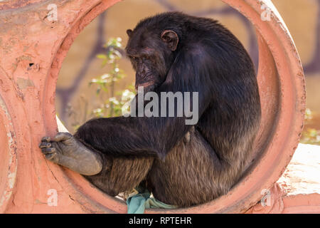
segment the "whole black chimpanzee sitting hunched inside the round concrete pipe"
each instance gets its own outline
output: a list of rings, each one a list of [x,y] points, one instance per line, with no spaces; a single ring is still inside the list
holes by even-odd
[[[218,21],[180,12],[146,18],[127,34],[136,87],[159,96],[198,92],[198,122],[187,125],[185,114],[95,118],[75,135],[44,137],[43,154],[112,196],[143,185],[188,207],[224,195],[245,172],[260,125],[247,51]]]

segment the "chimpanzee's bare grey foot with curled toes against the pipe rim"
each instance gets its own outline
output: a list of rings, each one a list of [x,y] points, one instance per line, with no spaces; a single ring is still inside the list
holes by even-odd
[[[53,140],[43,137],[39,147],[46,159],[82,175],[96,175],[102,170],[102,157],[70,133],[58,133]]]

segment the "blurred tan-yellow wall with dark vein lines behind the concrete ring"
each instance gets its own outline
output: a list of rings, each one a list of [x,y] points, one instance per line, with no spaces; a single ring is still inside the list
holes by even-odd
[[[272,2],[292,33],[302,58],[306,73],[307,107],[315,112],[313,125],[320,129],[320,0]],[[107,68],[101,67],[102,61],[95,57],[97,53],[103,53],[102,45],[105,41],[111,37],[121,37],[125,46],[127,28],[134,28],[146,16],[164,11],[183,11],[217,19],[242,41],[254,62],[257,62],[252,26],[238,11],[220,0],[124,0],[105,11],[80,33],[63,62],[56,107],[58,115],[69,129],[75,121],[83,123],[90,118],[90,115],[81,115],[81,112],[97,108],[101,103],[95,95],[95,89],[90,88],[88,83],[92,78],[107,72]],[[129,61],[123,58],[119,64],[127,77],[117,84],[117,90],[134,82],[134,71]],[[87,105],[83,100],[86,100]],[[70,107],[78,115],[70,115]]]

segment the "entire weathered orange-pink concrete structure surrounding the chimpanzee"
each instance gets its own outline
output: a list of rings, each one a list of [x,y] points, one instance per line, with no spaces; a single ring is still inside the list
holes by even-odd
[[[63,58],[82,29],[117,1],[0,3],[0,212],[127,212],[124,202],[100,192],[77,173],[48,162],[38,149],[43,135],[53,136],[58,131],[55,85]],[[262,190],[279,195],[276,182],[297,148],[306,94],[302,65],[290,33],[271,1],[224,1],[246,16],[257,31],[262,124],[255,157],[245,177],[227,195],[196,207],[150,209],[146,213],[251,212],[259,206]],[[57,21],[48,20],[51,3],[57,6]],[[270,21],[262,21],[262,5],[272,10]],[[48,204],[51,190],[57,192],[56,205]],[[276,193],[272,196],[277,199]],[[303,205],[311,199],[319,202],[318,196],[284,197],[284,209],[279,212],[286,212],[286,205],[293,208],[295,202],[301,207],[291,211],[304,212]],[[320,212],[319,207],[311,212]]]

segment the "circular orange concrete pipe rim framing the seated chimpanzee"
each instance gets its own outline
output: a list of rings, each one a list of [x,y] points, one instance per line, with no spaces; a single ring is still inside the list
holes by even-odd
[[[53,64],[46,78],[43,96],[43,114],[48,135],[57,132],[54,102],[48,105],[46,100],[54,100],[55,86],[61,63],[71,44],[82,29],[95,17],[119,0],[100,1],[99,4],[87,4],[81,17],[74,21],[57,51]],[[302,131],[305,110],[305,88],[302,64],[294,46],[294,41],[279,16],[274,5],[267,0],[222,0],[255,26],[257,38],[267,45],[274,61],[274,68],[279,76],[279,113],[272,131],[270,142],[265,151],[250,167],[247,175],[238,182],[227,195],[195,207],[181,209],[147,209],[146,213],[239,213],[245,212],[262,197],[261,190],[272,187],[289,164],[298,145]],[[262,21],[262,4],[270,7],[271,21]],[[261,50],[260,50],[261,51]],[[267,66],[266,66],[267,67]],[[271,66],[270,66],[271,67]],[[259,67],[260,72],[260,67]],[[258,73],[259,74],[259,73]],[[274,163],[275,162],[275,163]],[[82,205],[87,212],[126,213],[127,205],[110,197],[87,182],[84,177],[48,162],[63,190]]]

